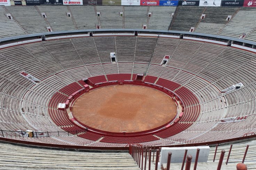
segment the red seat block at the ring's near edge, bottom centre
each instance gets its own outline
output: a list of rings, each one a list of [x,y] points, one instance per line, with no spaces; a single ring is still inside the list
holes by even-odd
[[[138,136],[138,137],[112,137],[112,136],[105,136],[101,142],[106,143],[142,143],[142,142],[150,142],[156,141],[159,138],[153,135],[147,136]]]

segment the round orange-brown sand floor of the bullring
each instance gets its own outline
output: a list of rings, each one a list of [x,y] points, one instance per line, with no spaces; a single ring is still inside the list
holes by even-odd
[[[83,124],[111,132],[137,132],[159,127],[176,116],[171,98],[152,88],[116,85],[80,96],[73,116]]]

